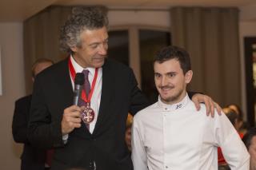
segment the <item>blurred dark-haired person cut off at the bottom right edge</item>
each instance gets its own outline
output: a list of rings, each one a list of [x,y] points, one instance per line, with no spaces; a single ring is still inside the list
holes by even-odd
[[[256,128],[250,128],[243,136],[242,141],[250,153],[250,170],[256,170]]]

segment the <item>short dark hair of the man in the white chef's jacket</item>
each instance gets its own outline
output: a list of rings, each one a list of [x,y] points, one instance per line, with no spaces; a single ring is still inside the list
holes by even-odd
[[[185,74],[191,70],[190,54],[178,46],[170,45],[160,49],[154,56],[154,62],[162,63],[170,59],[177,59]]]

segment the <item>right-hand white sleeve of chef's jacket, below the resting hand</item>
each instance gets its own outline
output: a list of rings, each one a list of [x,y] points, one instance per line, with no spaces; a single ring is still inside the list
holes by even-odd
[[[215,135],[227,164],[232,170],[248,170],[250,167],[250,155],[238,132],[224,113],[217,119]]]

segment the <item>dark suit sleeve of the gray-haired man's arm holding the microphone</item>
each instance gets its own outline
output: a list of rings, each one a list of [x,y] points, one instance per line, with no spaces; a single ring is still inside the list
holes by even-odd
[[[63,146],[61,121],[52,121],[46,105],[43,80],[37,77],[34,81],[34,90],[30,108],[28,138],[35,147],[47,149]]]

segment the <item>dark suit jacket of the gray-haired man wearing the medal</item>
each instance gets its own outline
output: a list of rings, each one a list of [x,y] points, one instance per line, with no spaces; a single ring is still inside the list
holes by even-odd
[[[63,144],[63,110],[73,101],[68,60],[38,74],[34,82],[30,110],[29,138],[41,148],[54,149],[52,169],[86,168],[132,170],[125,143],[127,113],[137,113],[148,105],[138,89],[133,71],[106,59],[102,66],[102,97],[94,132],[82,126],[70,132]]]

